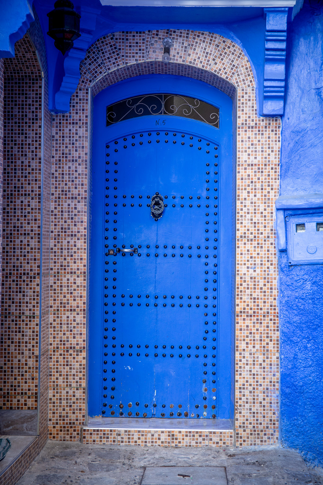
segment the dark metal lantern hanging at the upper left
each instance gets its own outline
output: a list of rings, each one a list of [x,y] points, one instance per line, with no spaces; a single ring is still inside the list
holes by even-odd
[[[54,3],[54,10],[47,14],[47,34],[55,40],[56,49],[64,55],[71,49],[81,34],[79,33],[80,15],[75,12],[74,5],[70,0],[58,0]]]

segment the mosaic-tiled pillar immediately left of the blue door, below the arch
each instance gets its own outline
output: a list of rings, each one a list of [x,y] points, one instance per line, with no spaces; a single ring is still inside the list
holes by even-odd
[[[49,438],[80,440],[86,419],[89,90],[52,124]]]

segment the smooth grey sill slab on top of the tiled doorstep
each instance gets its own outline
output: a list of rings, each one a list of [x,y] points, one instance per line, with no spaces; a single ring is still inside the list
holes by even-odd
[[[88,418],[86,428],[165,429],[165,430],[233,430],[232,420],[174,418]]]

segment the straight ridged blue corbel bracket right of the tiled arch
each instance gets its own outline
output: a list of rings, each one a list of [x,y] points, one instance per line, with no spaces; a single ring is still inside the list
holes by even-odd
[[[262,116],[284,114],[287,7],[264,8],[266,19]]]

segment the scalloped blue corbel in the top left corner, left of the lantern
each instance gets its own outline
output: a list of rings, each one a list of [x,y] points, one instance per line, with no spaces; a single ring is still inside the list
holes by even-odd
[[[1,2],[0,57],[15,57],[15,42],[25,35],[33,21],[27,0]]]

